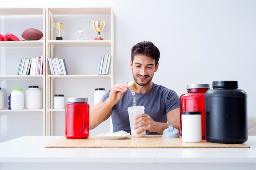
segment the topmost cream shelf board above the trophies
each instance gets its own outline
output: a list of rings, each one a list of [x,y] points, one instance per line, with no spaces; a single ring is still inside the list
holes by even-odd
[[[71,8],[48,8],[53,15],[107,15],[111,14],[111,7],[71,7]]]

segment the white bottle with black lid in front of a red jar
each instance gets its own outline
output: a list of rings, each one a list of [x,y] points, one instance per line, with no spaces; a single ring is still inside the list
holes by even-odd
[[[202,122],[201,112],[182,112],[182,141],[183,142],[201,142],[202,140]]]

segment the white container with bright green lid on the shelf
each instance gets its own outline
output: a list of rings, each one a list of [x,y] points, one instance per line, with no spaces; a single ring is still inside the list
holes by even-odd
[[[24,108],[24,94],[22,89],[12,89],[11,93],[11,109],[18,110]]]

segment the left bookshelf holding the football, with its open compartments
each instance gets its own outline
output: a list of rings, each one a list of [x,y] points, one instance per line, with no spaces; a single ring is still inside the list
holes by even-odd
[[[20,40],[23,40],[21,34],[24,30],[28,28],[36,28],[43,32],[43,38],[38,41],[0,41],[1,47],[1,72],[0,72],[0,82],[1,82],[1,90],[4,91],[4,109],[0,110],[1,118],[2,116],[8,116],[13,118],[17,114],[22,114],[29,116],[40,114],[39,119],[35,120],[36,122],[40,122],[42,124],[43,132],[39,134],[46,135],[46,110],[45,110],[45,77],[46,73],[43,75],[17,75],[17,70],[20,62],[20,58],[27,57],[33,58],[40,55],[46,56],[46,29],[45,29],[45,7],[38,8],[1,8],[0,16],[1,16],[1,34],[4,35],[6,33],[11,33],[19,37]],[[15,21],[15,22],[13,22]],[[13,28],[17,24],[17,27]],[[33,57],[32,57],[33,56]],[[45,59],[43,61],[43,70],[45,70]],[[29,85],[38,85],[40,90],[42,91],[42,109],[24,109],[22,110],[8,110],[8,96],[9,93],[12,92],[12,88],[19,87],[23,89],[23,94],[25,96],[25,92],[28,89]],[[25,102],[25,100],[24,100]],[[24,124],[29,124],[30,118],[27,119],[27,122]],[[11,122],[11,123],[10,123]],[[6,126],[3,123],[3,127]],[[9,120],[9,123],[12,124],[12,121]],[[11,125],[11,126],[15,126]],[[33,129],[35,127],[30,126],[29,128]],[[23,127],[20,128],[20,132],[24,133]],[[14,133],[11,131],[10,133]],[[22,134],[21,133],[21,134]],[[33,132],[33,133],[38,133]],[[26,134],[24,134],[26,135]],[[12,136],[15,136],[12,134]]]

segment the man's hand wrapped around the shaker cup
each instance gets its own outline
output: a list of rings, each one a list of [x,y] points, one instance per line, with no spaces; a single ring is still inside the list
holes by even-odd
[[[134,129],[140,128],[141,126],[144,126],[144,128],[142,128],[141,130],[137,131],[137,134],[144,132],[146,130],[150,131],[150,132],[157,132],[157,124],[158,122],[155,122],[150,115],[147,114],[140,114],[138,116],[136,116],[135,118],[135,122],[134,122]],[[144,121],[144,122],[141,122]],[[140,122],[140,123],[139,123]],[[138,125],[136,125],[138,123]]]

